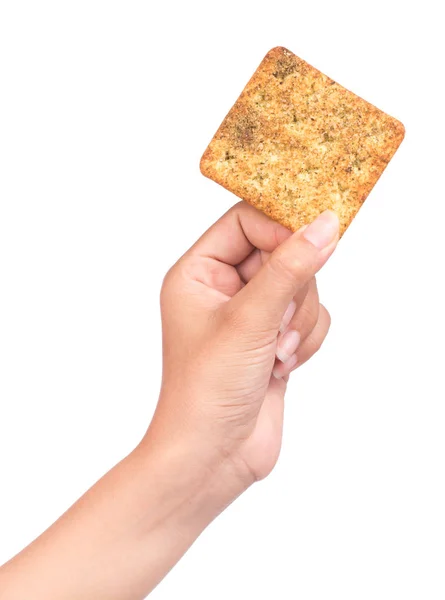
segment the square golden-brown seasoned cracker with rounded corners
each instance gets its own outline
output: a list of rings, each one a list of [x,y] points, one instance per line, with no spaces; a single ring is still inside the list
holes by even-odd
[[[292,231],[330,208],[342,235],[404,134],[400,121],[278,47],[221,123],[200,167]]]

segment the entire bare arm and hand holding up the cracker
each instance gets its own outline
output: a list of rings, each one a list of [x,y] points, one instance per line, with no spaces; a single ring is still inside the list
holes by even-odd
[[[330,211],[291,234],[239,203],[174,265],[161,292],[162,386],[146,435],[0,569],[1,597],[142,600],[270,473],[289,374],[329,329],[315,274],[337,241]]]

